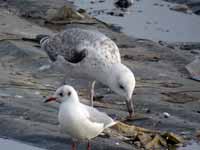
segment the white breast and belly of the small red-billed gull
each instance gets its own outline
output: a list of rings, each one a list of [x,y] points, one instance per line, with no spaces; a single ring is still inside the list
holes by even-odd
[[[84,111],[73,103],[61,104],[58,120],[61,131],[78,140],[94,138],[104,129],[103,124],[89,121]]]

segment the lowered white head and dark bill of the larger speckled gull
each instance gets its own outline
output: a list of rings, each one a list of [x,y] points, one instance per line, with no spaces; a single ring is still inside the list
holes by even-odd
[[[114,64],[109,78],[109,87],[126,99],[129,114],[133,113],[132,94],[135,89],[135,77],[132,71],[123,64]]]

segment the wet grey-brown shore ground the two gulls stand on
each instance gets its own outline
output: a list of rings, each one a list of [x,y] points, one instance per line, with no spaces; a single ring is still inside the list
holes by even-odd
[[[50,64],[48,58],[31,39],[73,26],[95,28],[113,39],[123,63],[134,72],[133,100],[138,118],[127,124],[174,132],[186,143],[198,141],[200,82],[192,78],[186,66],[200,56],[200,43],[129,37],[84,10],[72,8],[73,4],[65,0],[0,0],[0,137],[49,150],[70,148],[70,138],[59,132],[57,105],[43,103],[58,87],[63,74],[54,67],[44,69]],[[75,86],[83,102],[89,102],[84,80],[66,82]],[[102,85],[97,85],[96,92],[95,107],[118,118],[126,116],[120,97]],[[137,149],[137,144],[109,137],[97,137],[92,144],[96,150]],[[83,147],[85,143],[79,148]]]

